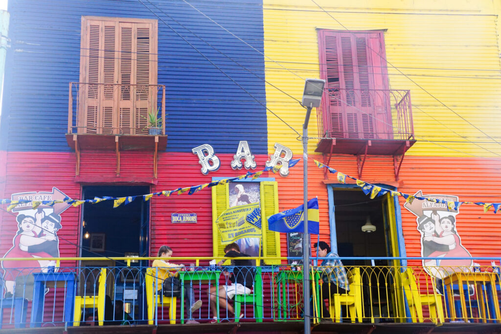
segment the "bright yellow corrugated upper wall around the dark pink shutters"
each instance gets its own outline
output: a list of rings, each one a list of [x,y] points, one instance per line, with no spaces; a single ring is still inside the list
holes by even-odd
[[[353,31],[385,29],[386,58],[391,64],[501,143],[498,0],[315,2],[334,19],[311,0],[264,1],[267,81],[301,100],[304,79],[320,77],[316,29],[344,30],[339,23]],[[414,131],[421,142],[408,155],[501,155],[501,144],[390,65],[388,74],[390,89],[411,91]],[[268,84],[266,94],[268,107],[302,133],[305,112],[300,104]],[[294,153],[302,151],[297,134],[271,113],[268,132],[270,152],[275,142],[291,147]],[[316,114],[310,120],[309,134],[318,135]],[[478,142],[485,149],[464,141]],[[311,153],[316,145],[317,140],[310,141]]]

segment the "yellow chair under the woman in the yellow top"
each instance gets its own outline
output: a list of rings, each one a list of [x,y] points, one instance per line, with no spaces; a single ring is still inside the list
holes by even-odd
[[[160,291],[157,293],[154,287],[156,287],[156,281],[158,279],[159,278],[157,276],[156,268],[146,269],[146,276],[144,277],[144,282],[146,284],[148,324],[153,324],[153,316],[155,314],[158,304],[161,304],[162,307],[164,307],[165,305],[169,307],[169,322],[174,324],[176,323],[177,297],[165,297],[161,294]],[[156,302],[155,302],[155,294],[157,294]]]

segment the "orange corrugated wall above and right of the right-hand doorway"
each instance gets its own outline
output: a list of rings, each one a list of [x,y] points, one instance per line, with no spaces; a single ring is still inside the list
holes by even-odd
[[[354,156],[335,156],[329,165],[357,177]],[[334,174],[328,177],[336,178]],[[397,183],[398,190],[407,194],[422,190],[424,195],[455,195],[460,201],[501,202],[499,163],[490,159],[409,156],[402,164],[400,181],[395,181],[391,157],[368,157],[362,180]],[[403,197],[399,202],[407,256],[421,256],[416,217],[403,208]],[[501,212],[494,214],[490,209],[484,213],[483,207],[468,204],[459,208],[456,219],[461,242],[473,257],[501,256]]]

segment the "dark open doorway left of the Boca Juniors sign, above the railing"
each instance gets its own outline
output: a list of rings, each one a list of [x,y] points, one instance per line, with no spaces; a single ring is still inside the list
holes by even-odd
[[[149,193],[148,186],[84,186],[84,199]],[[82,257],[148,256],[148,202],[136,198],[113,208],[113,201],[84,204]],[[88,234],[86,234],[88,233]],[[88,238],[87,238],[88,236]]]

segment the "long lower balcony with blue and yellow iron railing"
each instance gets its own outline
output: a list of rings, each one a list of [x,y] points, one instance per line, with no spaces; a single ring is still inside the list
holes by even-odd
[[[58,327],[63,330],[65,326],[83,326],[94,322],[96,326],[149,324],[151,326],[144,327],[143,332],[154,332],[156,327],[153,325],[163,323],[175,332],[195,331],[190,325],[182,325],[189,319],[184,311],[188,301],[182,297],[183,294],[177,295],[167,291],[168,287],[161,282],[158,284],[156,271],[145,266],[150,259],[134,258],[134,261],[139,262],[131,263],[131,258],[124,257],[92,258],[92,266],[84,266],[86,258],[38,259],[52,260],[56,267],[51,269],[29,268],[22,265],[20,259],[3,258],[5,286],[13,286],[7,284],[9,281],[15,281],[16,285],[13,291],[9,291],[14,294],[13,297],[0,297],[0,309],[4,311],[1,326],[4,329],[27,325],[51,326],[54,330]],[[242,330],[250,328],[254,332],[271,328],[277,332],[290,332],[289,326],[299,324],[301,327],[300,321],[303,320],[303,272],[296,265],[286,264],[299,258],[280,259],[283,264],[244,269],[224,266],[213,268],[208,266],[208,257],[176,257],[169,261],[192,262],[193,265],[169,270],[179,277],[183,288],[193,290],[195,300],[202,300],[201,308],[192,313],[196,321],[208,322],[212,319],[207,289],[217,284],[230,284],[225,269],[236,275],[241,270],[248,277],[245,279],[248,279],[246,285],[250,292],[235,296],[234,301],[227,299],[237,306],[237,317],[220,306],[218,322],[240,321],[243,322]],[[428,259],[436,262],[435,259],[444,258]],[[63,265],[75,263],[75,260],[82,260],[82,266]],[[320,262],[322,258],[317,260]],[[349,292],[346,293],[337,291],[336,287],[328,289],[326,284],[329,275],[333,274],[333,267],[313,267],[310,276],[314,322],[320,318],[330,319],[321,324],[329,332],[372,331],[376,327],[382,330],[379,332],[417,329],[430,332],[433,328],[454,330],[454,325],[457,325],[454,322],[462,322],[461,330],[469,332],[498,330],[496,326],[501,320],[498,302],[501,296],[499,266],[490,263],[490,260],[499,263],[498,258],[463,258],[459,261],[473,262],[474,267],[465,264],[435,266],[428,262],[422,266],[422,258],[391,257],[376,258],[385,265],[366,265],[371,260],[374,258],[342,258],[343,262],[351,263],[343,267],[349,284]],[[399,264],[401,260],[408,264]],[[143,265],[135,265],[140,263]],[[440,278],[435,278],[432,273],[438,273]],[[155,287],[159,287],[159,290]],[[78,307],[75,306],[76,302]],[[339,308],[339,305],[349,307]],[[175,312],[169,310],[171,306],[176,309]],[[16,307],[19,309],[14,312]],[[307,307],[310,306],[307,304]],[[31,319],[26,318],[28,309],[31,309]],[[85,318],[81,317],[82,314]],[[219,326],[224,325],[228,326],[223,331],[228,332],[235,323],[231,326],[229,323],[207,323],[203,329],[204,325],[196,326],[200,326],[197,330],[201,331],[212,331],[213,328],[220,331],[224,328]],[[127,330],[127,326],[122,328]],[[115,327],[114,332],[117,330]]]

